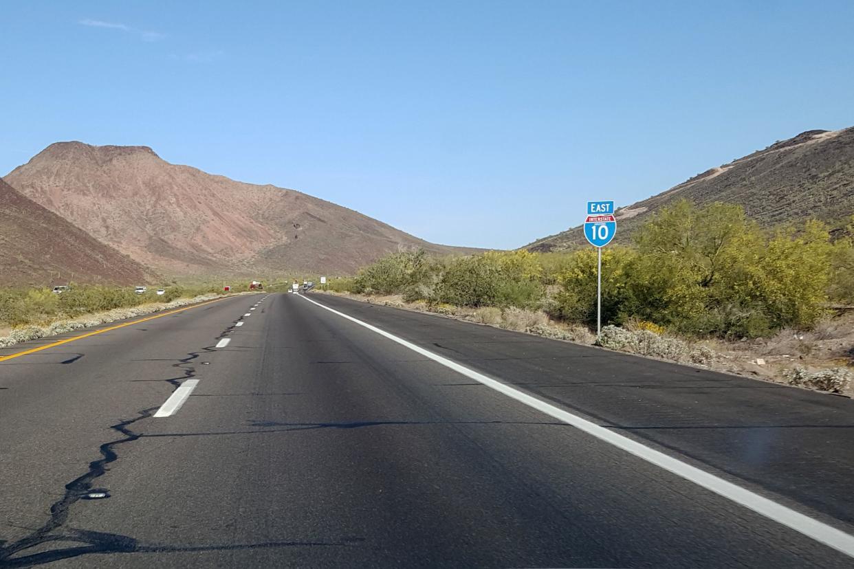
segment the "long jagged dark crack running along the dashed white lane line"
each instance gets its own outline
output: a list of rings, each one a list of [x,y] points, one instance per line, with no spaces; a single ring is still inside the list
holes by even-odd
[[[232,328],[234,328],[233,324],[230,327],[225,328],[225,330],[214,340],[223,338],[231,331]],[[187,357],[178,359],[177,363],[172,364],[173,368],[183,371],[183,375],[156,381],[165,381],[169,385],[173,386],[174,392],[175,389],[178,389],[178,387],[181,386],[183,380],[188,380],[196,376],[196,369],[193,365],[194,360],[200,357],[202,353],[211,353],[213,351],[215,351],[213,346],[203,347],[200,351],[188,351]],[[15,542],[7,544],[6,540],[0,539],[0,567],[41,565],[43,563],[50,563],[52,561],[90,553],[167,550],[168,548],[163,549],[161,546],[142,547],[133,537],[101,531],[83,531],[69,528],[69,534],[58,535],[55,533],[56,530],[61,529],[67,522],[68,515],[70,514],[70,508],[82,499],[89,491],[91,491],[92,483],[96,479],[101,477],[104,473],[107,473],[107,465],[119,460],[119,454],[115,450],[116,447],[120,444],[132,443],[144,436],[144,433],[134,433],[129,427],[137,421],[148,419],[153,415],[154,411],[159,408],[160,406],[158,405],[157,407],[142,409],[137,411],[137,416],[135,418],[120,421],[115,425],[110,426],[111,429],[121,433],[123,436],[101,444],[98,447],[102,457],[96,461],[90,462],[89,470],[86,473],[65,485],[64,495],[50,506],[50,520],[35,531],[32,531],[28,536],[21,537]],[[35,548],[44,543],[57,541],[85,543],[85,545],[52,549],[50,551],[29,554],[23,557],[12,557],[13,555],[20,554],[27,549]]]

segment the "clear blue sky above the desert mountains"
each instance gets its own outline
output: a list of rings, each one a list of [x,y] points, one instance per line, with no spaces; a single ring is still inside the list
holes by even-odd
[[[854,125],[854,2],[3,3],[0,173],[144,144],[430,241],[520,247]]]

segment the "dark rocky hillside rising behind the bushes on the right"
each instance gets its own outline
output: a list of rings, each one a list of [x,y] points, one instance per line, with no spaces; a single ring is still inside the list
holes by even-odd
[[[839,229],[854,214],[854,127],[802,132],[622,207],[616,212],[615,240],[629,241],[650,214],[681,198],[697,205],[715,201],[739,204],[748,217],[766,227],[819,218]],[[582,229],[576,227],[524,248],[559,251],[586,242]]]

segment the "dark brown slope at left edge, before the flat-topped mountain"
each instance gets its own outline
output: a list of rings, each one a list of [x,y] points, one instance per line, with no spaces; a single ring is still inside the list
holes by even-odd
[[[152,272],[0,179],[0,286],[148,282]]]

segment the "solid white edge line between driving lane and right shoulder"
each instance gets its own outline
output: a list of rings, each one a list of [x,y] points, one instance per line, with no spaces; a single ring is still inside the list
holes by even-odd
[[[845,531],[838,530],[832,525],[810,518],[808,515],[801,514],[792,508],[783,506],[769,498],[759,496],[757,493],[749,491],[746,488],[742,488],[740,485],[735,485],[732,482],[718,478],[714,474],[707,473],[705,470],[701,470],[698,467],[687,464],[687,462],[682,462],[677,458],[665,455],[663,452],[652,449],[645,444],[640,444],[631,438],[614,433],[613,431],[610,431],[605,427],[601,427],[594,422],[583,419],[578,415],[573,415],[569,411],[559,409],[553,404],[548,404],[545,401],[541,401],[540,399],[529,395],[528,393],[519,391],[515,387],[508,386],[507,384],[494,380],[480,372],[466,368],[459,363],[447,359],[447,357],[442,357],[432,351],[424,350],[424,348],[414,345],[412,342],[403,340],[402,338],[398,338],[394,334],[389,334],[381,328],[372,326],[367,322],[362,322],[353,316],[348,316],[347,314],[336,311],[334,308],[330,308],[329,306],[321,305],[319,302],[315,302],[306,296],[300,296],[302,299],[306,299],[313,305],[318,305],[320,308],[333,312],[343,318],[347,318],[349,321],[368,328],[372,332],[376,332],[389,340],[406,346],[410,350],[415,351],[424,357],[428,357],[436,363],[441,363],[446,368],[453,369],[471,380],[475,380],[485,386],[492,387],[497,392],[516,399],[518,402],[526,404],[533,409],[537,409],[538,411],[552,416],[559,421],[564,421],[564,423],[593,435],[595,438],[605,441],[605,443],[613,444],[617,448],[625,450],[646,462],[650,462],[657,467],[664,468],[664,470],[676,474],[676,476],[702,486],[706,490],[716,493],[718,496],[723,496],[728,500],[744,506],[745,508],[752,509],[757,514],[762,514],[766,518],[774,520],[782,525],[786,525],[804,536],[811,537],[819,543],[824,543],[828,547],[854,557],[854,536],[845,533]]]

